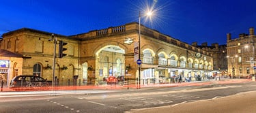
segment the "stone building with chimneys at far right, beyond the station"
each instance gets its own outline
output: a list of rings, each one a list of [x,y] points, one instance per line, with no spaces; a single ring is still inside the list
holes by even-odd
[[[255,74],[255,44],[254,28],[249,29],[249,34],[241,33],[234,39],[227,33],[228,73],[233,78]]]

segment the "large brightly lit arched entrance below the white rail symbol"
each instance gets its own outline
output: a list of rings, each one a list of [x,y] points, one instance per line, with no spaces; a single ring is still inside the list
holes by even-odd
[[[99,84],[109,76],[124,76],[124,53],[124,49],[115,45],[104,46],[96,53],[96,78]]]

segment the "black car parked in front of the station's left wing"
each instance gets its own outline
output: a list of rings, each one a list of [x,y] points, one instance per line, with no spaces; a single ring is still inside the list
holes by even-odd
[[[10,82],[10,88],[18,87],[48,87],[48,82],[40,76],[20,75],[14,77]]]

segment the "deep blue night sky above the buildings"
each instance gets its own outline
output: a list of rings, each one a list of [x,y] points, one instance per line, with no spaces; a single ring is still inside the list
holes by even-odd
[[[226,44],[227,33],[256,29],[255,0],[3,0],[0,35],[23,27],[76,35],[139,22],[147,9],[141,24],[188,44]]]

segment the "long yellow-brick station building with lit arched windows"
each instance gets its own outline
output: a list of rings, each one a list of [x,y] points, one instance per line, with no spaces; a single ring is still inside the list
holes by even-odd
[[[54,42],[68,43],[66,57],[56,58],[53,76]],[[0,49],[13,57],[0,56],[0,70],[6,80],[21,74],[38,75],[47,80],[57,79],[66,85],[78,76],[79,84],[101,84],[104,77],[124,76],[136,82],[139,77],[137,44],[139,24],[89,31],[77,35],[59,35],[35,29],[18,29],[2,35]],[[171,82],[173,76],[212,76],[213,54],[186,44],[179,39],[141,25],[141,84]],[[57,54],[59,46],[57,44]],[[2,73],[2,71],[1,71]]]

